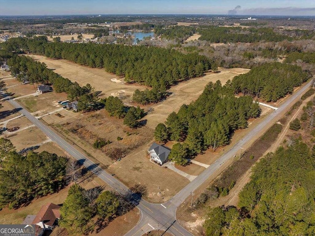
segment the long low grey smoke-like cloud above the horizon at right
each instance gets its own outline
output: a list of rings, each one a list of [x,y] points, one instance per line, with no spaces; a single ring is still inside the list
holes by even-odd
[[[266,7],[266,8],[249,8],[243,9],[240,14],[243,15],[309,15],[312,16],[315,14],[314,7],[300,8],[300,7]]]

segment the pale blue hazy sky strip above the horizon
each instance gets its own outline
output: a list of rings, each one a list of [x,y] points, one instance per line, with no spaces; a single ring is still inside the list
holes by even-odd
[[[79,14],[315,16],[315,0],[0,0],[0,16]]]

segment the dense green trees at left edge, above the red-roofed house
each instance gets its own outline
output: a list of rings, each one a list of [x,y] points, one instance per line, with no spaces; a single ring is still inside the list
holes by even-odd
[[[67,159],[46,151],[16,152],[10,140],[0,138],[0,208],[17,208],[36,197],[61,189]]]

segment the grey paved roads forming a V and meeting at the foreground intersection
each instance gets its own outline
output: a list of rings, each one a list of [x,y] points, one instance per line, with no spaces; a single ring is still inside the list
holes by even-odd
[[[191,234],[184,229],[176,221],[176,209],[184,202],[190,195],[191,192],[195,191],[204,181],[206,181],[221,165],[228,159],[233,158],[240,148],[244,146],[247,142],[252,140],[252,138],[259,132],[264,130],[264,127],[273,121],[296,99],[298,99],[311,85],[313,81],[311,80],[306,85],[304,85],[300,90],[293,94],[287,101],[285,101],[276,111],[271,113],[266,117],[259,125],[257,125],[251,133],[245,135],[242,140],[238,141],[228,152],[222,155],[217,161],[215,161],[210,167],[205,169],[201,174],[199,174],[193,181],[191,181],[187,186],[185,186],[181,191],[179,191],[172,199],[168,202],[162,204],[154,204],[147,202],[141,198],[133,197],[133,201],[137,201],[137,207],[140,209],[141,218],[138,224],[132,228],[126,236],[141,236],[144,233],[151,231],[153,229],[167,230],[174,236],[191,236]],[[33,117],[27,110],[25,110],[18,102],[12,100],[10,97],[9,102],[15,108],[22,108],[20,112],[25,115],[34,125],[36,125],[41,131],[45,133],[49,138],[59,144],[66,152],[77,159],[86,168],[93,171],[99,178],[105,181],[113,189],[118,192],[126,193],[129,189],[119,180],[111,176],[103,169],[97,167],[94,162],[89,160],[85,155],[75,149],[72,145],[66,142],[61,136],[57,135],[48,126],[41,123],[35,117]]]

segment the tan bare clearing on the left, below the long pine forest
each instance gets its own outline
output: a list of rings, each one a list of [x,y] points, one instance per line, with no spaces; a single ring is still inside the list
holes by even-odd
[[[126,96],[132,96],[136,89],[144,89],[145,86],[135,84],[113,83],[111,79],[117,78],[117,75],[106,72],[104,69],[90,68],[80,66],[66,60],[49,59],[44,56],[30,55],[34,60],[43,62],[48,68],[72,82],[78,82],[80,86],[91,84],[98,91],[102,91],[103,96],[108,97],[111,93],[119,90],[125,90]]]

